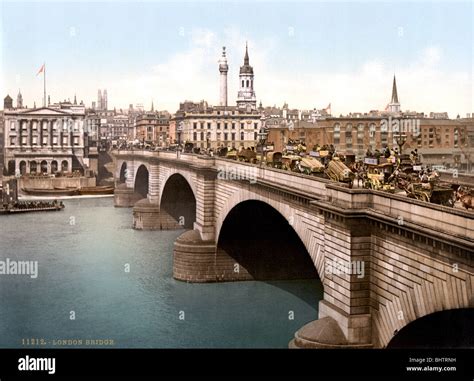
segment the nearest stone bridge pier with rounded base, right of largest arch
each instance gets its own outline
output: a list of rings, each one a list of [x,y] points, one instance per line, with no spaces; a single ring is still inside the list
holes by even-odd
[[[371,228],[364,219],[325,215],[324,300],[319,319],[306,324],[292,348],[372,347]]]

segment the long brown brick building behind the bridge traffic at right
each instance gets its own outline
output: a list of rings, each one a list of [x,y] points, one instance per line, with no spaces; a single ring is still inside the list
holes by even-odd
[[[391,115],[326,118],[316,122],[298,120],[293,128],[284,119],[266,122],[268,141],[275,150],[283,150],[290,140],[315,146],[334,145],[336,150],[352,153],[359,158],[368,148],[400,147],[403,153],[417,149],[425,164],[440,164],[462,169],[472,168],[474,119],[411,118]]]

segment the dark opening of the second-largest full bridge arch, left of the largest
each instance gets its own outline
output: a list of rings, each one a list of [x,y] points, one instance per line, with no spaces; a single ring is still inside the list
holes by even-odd
[[[186,229],[196,221],[196,196],[189,181],[180,173],[171,174],[160,193],[160,213],[166,213]]]

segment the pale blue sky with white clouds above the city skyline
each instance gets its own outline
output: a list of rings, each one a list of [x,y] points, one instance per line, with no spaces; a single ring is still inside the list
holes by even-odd
[[[0,90],[42,103],[87,106],[107,89],[109,108],[153,101],[218,104],[218,60],[228,52],[235,104],[248,42],[258,102],[383,110],[396,74],[402,110],[474,112],[474,13],[468,2],[23,2],[0,0]]]

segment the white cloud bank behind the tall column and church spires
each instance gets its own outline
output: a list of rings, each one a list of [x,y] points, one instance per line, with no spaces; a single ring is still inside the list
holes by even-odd
[[[184,100],[205,99],[217,104],[217,62],[225,45],[229,61],[229,103],[235,104],[239,67],[248,42],[257,100],[262,100],[264,105],[281,106],[288,102],[290,107],[312,109],[326,107],[331,102],[333,114],[339,115],[383,110],[390,101],[393,65],[379,57],[368,57],[363,65],[351,71],[315,72],[299,69],[302,57],[287,57],[279,41],[256,40],[235,27],[220,34],[195,29],[184,38],[189,42],[186,50],[164,58],[146,74],[117,82],[109,94],[123,94],[123,100],[114,97],[123,105],[130,100],[148,105],[153,99],[160,109],[171,112]],[[427,46],[397,70],[403,110],[448,111],[453,118],[457,113],[472,112],[470,73],[443,71],[442,60],[439,47]]]

